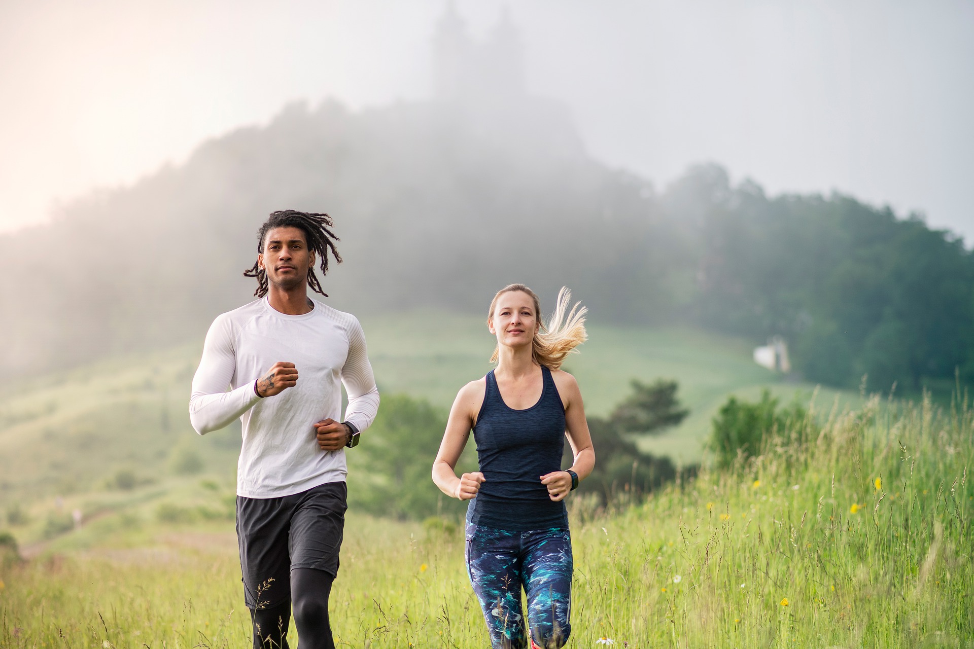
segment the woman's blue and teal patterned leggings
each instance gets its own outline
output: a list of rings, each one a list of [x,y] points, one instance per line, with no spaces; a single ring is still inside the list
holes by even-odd
[[[572,537],[568,529],[510,532],[467,525],[467,568],[494,649],[527,649],[521,588],[534,645],[558,649],[572,632]]]

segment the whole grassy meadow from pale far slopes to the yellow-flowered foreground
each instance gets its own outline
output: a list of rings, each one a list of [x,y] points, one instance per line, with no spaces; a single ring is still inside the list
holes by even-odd
[[[363,318],[380,388],[446,409],[489,369],[492,342],[480,318],[436,322],[442,340],[421,314]],[[693,330],[590,336],[568,367],[590,413],[608,413],[630,379],[680,381],[692,415],[646,450],[699,460],[717,408],[763,386],[811,403],[814,434],[784,431],[758,458],[636,502],[572,498],[568,646],[974,646],[964,403],[815,393],[754,365],[747,342]],[[0,647],[248,646],[239,429],[189,428],[198,355],[106,359],[0,396],[0,533],[26,558],[0,545]],[[486,646],[463,549],[459,520],[351,511],[332,596],[341,646]]]

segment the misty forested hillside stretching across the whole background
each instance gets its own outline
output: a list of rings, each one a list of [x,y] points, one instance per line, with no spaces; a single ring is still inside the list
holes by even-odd
[[[479,313],[506,283],[543,298],[565,284],[593,321],[781,335],[810,380],[974,378],[974,263],[954,235],[854,198],[769,198],[713,165],[658,192],[592,161],[556,107],[518,110],[294,104],[0,236],[17,287],[0,376],[199,342],[251,299],[254,233],[291,207],[335,219],[346,261],[324,286],[339,308]]]

